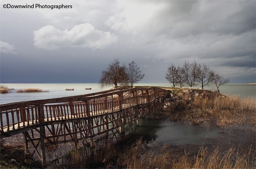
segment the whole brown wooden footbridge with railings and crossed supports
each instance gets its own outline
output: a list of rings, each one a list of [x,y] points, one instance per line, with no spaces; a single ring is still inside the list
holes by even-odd
[[[139,117],[156,111],[166,95],[167,90],[161,88],[122,87],[79,96],[2,104],[0,139],[23,133],[25,153],[30,153],[30,142],[34,149],[32,156],[36,153],[44,166],[47,145],[76,143],[114,129],[122,132],[125,124],[136,120],[138,125]]]

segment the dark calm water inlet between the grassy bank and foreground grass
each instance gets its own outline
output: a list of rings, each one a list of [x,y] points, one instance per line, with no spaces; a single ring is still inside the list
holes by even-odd
[[[125,132],[130,136],[143,137],[145,142],[202,145],[204,142],[213,144],[215,141],[222,142],[222,144],[246,142],[248,139],[255,138],[255,132],[250,131],[250,126],[226,130],[157,119],[139,119],[139,124],[139,127],[126,125]]]

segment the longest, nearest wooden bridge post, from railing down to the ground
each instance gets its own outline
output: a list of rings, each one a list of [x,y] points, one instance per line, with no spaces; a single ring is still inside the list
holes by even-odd
[[[40,114],[40,121],[44,121],[44,109],[43,104],[40,104],[39,107],[39,114]],[[44,167],[46,165],[46,153],[45,153],[45,144],[44,144],[44,137],[45,137],[45,129],[44,126],[40,126],[40,146],[41,146],[41,157],[42,157],[42,166]]]

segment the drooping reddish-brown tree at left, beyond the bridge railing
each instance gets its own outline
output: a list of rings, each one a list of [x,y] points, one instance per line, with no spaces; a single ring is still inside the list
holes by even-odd
[[[102,76],[100,79],[101,87],[111,86],[117,88],[117,83],[122,82],[123,75],[125,73],[124,66],[120,65],[119,60],[114,60],[105,71],[102,71]]]

